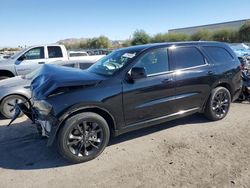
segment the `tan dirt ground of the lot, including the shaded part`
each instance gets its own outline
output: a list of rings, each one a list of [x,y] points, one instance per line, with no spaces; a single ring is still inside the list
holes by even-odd
[[[21,118],[0,126],[0,187],[250,187],[249,113],[233,104],[222,121],[193,115],[125,134],[78,165]]]

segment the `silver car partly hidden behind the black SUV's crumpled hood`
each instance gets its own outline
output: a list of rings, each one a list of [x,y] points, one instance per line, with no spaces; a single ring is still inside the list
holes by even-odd
[[[55,65],[72,67],[77,69],[87,69],[94,62],[86,61],[57,61]],[[0,112],[5,118],[12,118],[15,111],[14,107],[17,103],[23,103],[31,97],[30,83],[32,78],[39,72],[39,68],[27,75],[16,76],[13,78],[0,80]],[[60,75],[59,77],[63,77]],[[27,107],[30,103],[25,102]]]

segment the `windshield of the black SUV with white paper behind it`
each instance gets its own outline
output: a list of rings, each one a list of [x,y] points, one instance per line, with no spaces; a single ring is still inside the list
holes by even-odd
[[[114,51],[97,61],[88,70],[96,74],[111,76],[133,59],[137,53],[138,51],[131,49]]]

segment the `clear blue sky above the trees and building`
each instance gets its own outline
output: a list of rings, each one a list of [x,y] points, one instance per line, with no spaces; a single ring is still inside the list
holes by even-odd
[[[250,0],[0,0],[0,47],[250,18]]]

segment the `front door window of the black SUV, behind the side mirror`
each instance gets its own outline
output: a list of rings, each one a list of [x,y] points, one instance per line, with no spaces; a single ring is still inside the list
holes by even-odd
[[[168,71],[168,54],[166,48],[152,50],[144,54],[135,67],[144,67],[147,75]]]

